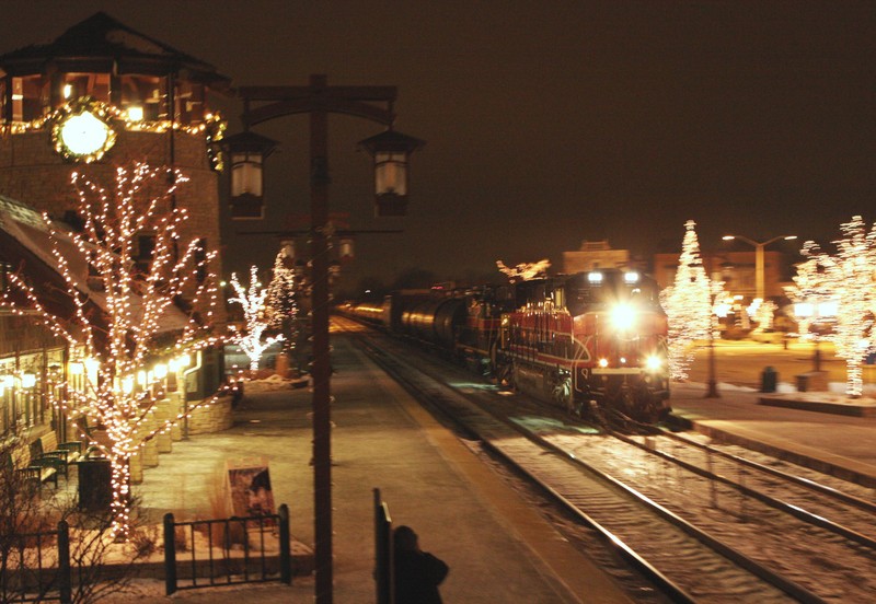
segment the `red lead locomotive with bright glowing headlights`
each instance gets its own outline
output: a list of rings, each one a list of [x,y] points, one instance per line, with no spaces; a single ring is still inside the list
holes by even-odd
[[[593,270],[520,283],[503,322],[497,375],[574,413],[655,420],[669,410],[667,320],[654,280]]]

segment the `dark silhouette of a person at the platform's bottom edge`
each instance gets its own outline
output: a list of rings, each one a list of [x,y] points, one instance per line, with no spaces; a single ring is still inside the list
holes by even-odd
[[[419,548],[417,534],[410,526],[393,532],[395,604],[441,604],[438,585],[450,568]]]

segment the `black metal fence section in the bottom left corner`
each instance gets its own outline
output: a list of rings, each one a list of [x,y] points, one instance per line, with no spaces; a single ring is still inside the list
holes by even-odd
[[[54,543],[53,543],[54,542]],[[0,599],[16,602],[72,602],[70,532],[66,521],[57,531],[15,536],[0,556]]]

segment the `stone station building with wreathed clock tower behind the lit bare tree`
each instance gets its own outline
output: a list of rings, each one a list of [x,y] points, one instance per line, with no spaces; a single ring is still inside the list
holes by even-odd
[[[166,167],[169,183],[174,170],[186,176],[170,200],[188,214],[180,246],[197,241],[205,254],[220,249],[217,142],[224,121],[210,97],[229,88],[211,65],[102,12],[53,42],[0,55],[0,278],[22,270],[37,287],[57,286],[57,267],[39,257],[38,243],[20,236],[27,221],[47,212],[74,224],[71,174],[113,186],[116,169],[135,162]],[[138,233],[131,260],[148,264],[154,240]],[[222,275],[219,256],[209,272]],[[222,324],[224,305],[216,313]],[[46,404],[49,373],[76,381],[69,355],[37,321],[0,311],[0,429],[71,435],[64,434],[67,418]],[[208,351],[184,396],[207,396],[222,378],[220,352]]]

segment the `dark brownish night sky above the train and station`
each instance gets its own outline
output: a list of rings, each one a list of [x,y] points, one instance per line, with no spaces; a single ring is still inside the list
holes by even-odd
[[[828,243],[876,220],[876,3],[701,1],[160,1],[2,3],[0,53],[48,42],[103,10],[216,66],[234,85],[395,85],[396,128],[425,139],[405,219],[372,218],[380,127],[330,120],[332,211],[361,235],[346,288],[422,268],[477,279],[584,240],[678,252],[693,219],[704,251],[736,232]],[[216,103],[239,131],[241,105]],[[268,220],[229,224],[226,265],[268,268],[302,228],[307,118],[255,128]],[[292,217],[291,219],[289,217]],[[295,218],[298,217],[298,218]]]

